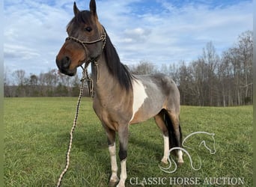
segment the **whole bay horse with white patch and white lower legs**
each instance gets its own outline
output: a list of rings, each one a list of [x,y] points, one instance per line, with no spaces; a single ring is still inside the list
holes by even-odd
[[[68,37],[56,57],[61,73],[76,74],[77,67],[91,64],[93,80],[93,108],[106,131],[112,165],[109,185],[125,186],[127,179],[127,145],[129,125],[154,117],[162,131],[164,156],[168,163],[168,150],[181,147],[180,92],[174,81],[164,74],[135,76],[121,63],[109,35],[97,16],[95,0],[90,10],[80,11],[73,4],[74,17],[67,25]],[[120,180],[116,159],[115,134],[118,132]],[[178,164],[183,153],[177,150]]]

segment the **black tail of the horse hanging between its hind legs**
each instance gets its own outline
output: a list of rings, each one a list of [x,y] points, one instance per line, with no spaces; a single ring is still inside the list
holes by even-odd
[[[181,133],[180,124],[179,124],[180,141],[179,141],[177,139],[177,136],[175,135],[174,126],[173,126],[173,123],[171,121],[171,118],[169,117],[169,115],[167,114],[166,111],[165,111],[165,114],[164,114],[164,119],[165,119],[165,125],[167,126],[167,129],[168,129],[169,149],[171,149],[171,147],[181,147],[181,145],[182,145],[182,133]],[[174,152],[176,153],[176,151],[174,151]]]

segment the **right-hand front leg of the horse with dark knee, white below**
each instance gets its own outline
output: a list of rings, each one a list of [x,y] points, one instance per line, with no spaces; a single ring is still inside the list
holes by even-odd
[[[117,187],[124,187],[125,180],[127,180],[127,146],[128,146],[128,126],[119,126],[119,158],[121,161],[120,181]]]

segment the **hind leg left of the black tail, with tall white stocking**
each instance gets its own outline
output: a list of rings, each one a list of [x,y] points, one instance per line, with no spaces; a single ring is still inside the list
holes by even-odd
[[[156,121],[156,125],[162,131],[162,137],[164,139],[164,155],[162,157],[161,162],[167,165],[168,151],[169,151],[169,137],[168,137],[168,129],[167,129],[167,126],[165,125],[165,120],[163,117],[164,117],[164,114],[162,111],[160,111],[159,114],[157,114],[154,118]]]

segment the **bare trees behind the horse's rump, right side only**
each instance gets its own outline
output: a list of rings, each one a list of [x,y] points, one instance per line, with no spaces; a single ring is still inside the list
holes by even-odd
[[[245,31],[237,43],[219,56],[212,42],[206,44],[198,59],[189,63],[153,64],[141,62],[134,73],[165,73],[180,90],[182,105],[233,106],[249,105],[253,99],[252,31]]]

